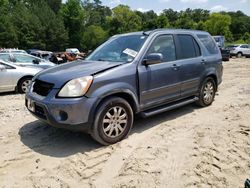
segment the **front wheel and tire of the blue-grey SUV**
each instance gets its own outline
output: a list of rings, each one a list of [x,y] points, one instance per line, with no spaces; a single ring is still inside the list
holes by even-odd
[[[114,144],[129,134],[133,121],[133,110],[126,100],[108,98],[97,109],[91,136],[102,145]]]

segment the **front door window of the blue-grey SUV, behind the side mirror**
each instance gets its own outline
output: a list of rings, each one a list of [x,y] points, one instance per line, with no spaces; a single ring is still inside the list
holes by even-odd
[[[176,60],[175,44],[172,35],[161,35],[157,37],[149,48],[147,54],[161,53],[163,55],[163,61]]]

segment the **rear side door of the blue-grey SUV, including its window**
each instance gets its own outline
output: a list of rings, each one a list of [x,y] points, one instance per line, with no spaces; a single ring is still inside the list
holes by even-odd
[[[197,93],[205,70],[201,49],[192,35],[176,35],[177,58],[180,65],[181,97]]]

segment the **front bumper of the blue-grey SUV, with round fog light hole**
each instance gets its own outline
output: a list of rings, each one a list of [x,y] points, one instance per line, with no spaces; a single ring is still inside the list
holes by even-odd
[[[38,119],[51,126],[89,132],[93,118],[91,111],[95,98],[55,98],[58,90],[53,89],[47,97],[28,92],[25,106]],[[32,109],[28,108],[32,104]]]

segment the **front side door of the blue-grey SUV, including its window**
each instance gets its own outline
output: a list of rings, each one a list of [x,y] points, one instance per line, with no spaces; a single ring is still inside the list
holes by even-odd
[[[180,97],[180,71],[176,61],[173,35],[157,36],[147,55],[161,53],[163,61],[153,65],[139,65],[140,104],[142,109],[158,106]]]

